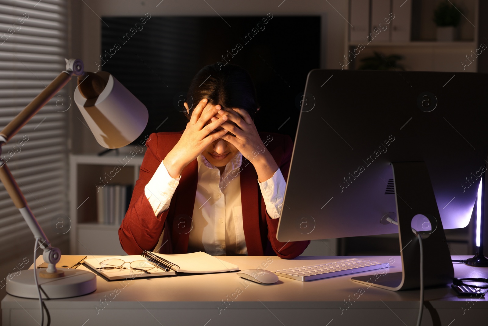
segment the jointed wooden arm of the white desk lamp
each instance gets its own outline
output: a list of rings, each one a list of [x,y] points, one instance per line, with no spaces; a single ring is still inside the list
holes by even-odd
[[[0,132],[0,154],[1,146],[6,144],[49,100],[56,95],[62,87],[70,80],[72,75],[83,73],[83,62],[79,59],[66,60],[66,70],[62,71],[41,93],[36,96],[19,114]],[[57,273],[56,263],[61,259],[61,250],[52,247],[47,239],[41,225],[32,214],[27,201],[14,180],[14,176],[7,165],[0,158],[0,181],[5,186],[8,195],[12,198],[15,206],[29,226],[35,239],[39,239],[40,247],[44,250],[42,258],[48,264],[47,273]],[[34,267],[35,268],[35,267]]]

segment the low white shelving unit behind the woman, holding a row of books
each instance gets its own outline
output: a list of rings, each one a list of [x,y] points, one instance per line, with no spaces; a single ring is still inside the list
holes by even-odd
[[[104,156],[70,155],[71,255],[125,255],[119,242],[119,225],[97,222],[99,187],[103,184],[134,186],[139,178],[144,152],[135,152],[134,156],[123,152],[118,156],[113,152]]]

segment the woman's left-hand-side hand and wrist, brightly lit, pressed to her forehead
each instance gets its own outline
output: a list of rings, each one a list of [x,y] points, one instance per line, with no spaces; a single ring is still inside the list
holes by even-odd
[[[227,120],[227,115],[212,119],[221,109],[220,105],[213,106],[203,99],[193,110],[190,121],[186,124],[178,143],[164,158],[164,166],[172,178],[178,178],[184,167],[200,155],[208,145],[222,137],[227,130],[214,130]],[[206,109],[204,113],[203,110]]]

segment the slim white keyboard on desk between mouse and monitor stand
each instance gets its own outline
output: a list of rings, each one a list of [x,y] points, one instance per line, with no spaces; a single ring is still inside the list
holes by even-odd
[[[327,262],[320,265],[282,269],[274,271],[273,273],[278,276],[284,276],[298,281],[311,281],[388,267],[390,267],[390,264],[383,261],[351,258],[343,261]]]

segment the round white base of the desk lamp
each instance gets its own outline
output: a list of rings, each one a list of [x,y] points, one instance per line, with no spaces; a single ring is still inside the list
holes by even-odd
[[[38,299],[39,292],[34,281],[34,272],[38,275],[37,280],[43,299],[79,297],[97,289],[97,276],[94,273],[71,268],[58,269],[64,272],[64,277],[46,279],[39,275],[43,269],[22,270],[19,275],[14,275],[8,281],[6,291],[16,297]]]

